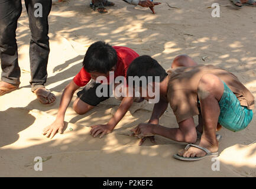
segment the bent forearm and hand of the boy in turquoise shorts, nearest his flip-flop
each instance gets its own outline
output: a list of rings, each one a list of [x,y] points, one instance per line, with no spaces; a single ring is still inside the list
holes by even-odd
[[[179,128],[166,128],[161,125],[141,123],[132,131],[140,138],[148,135],[160,135],[178,142],[194,143],[196,141],[196,128],[193,118],[180,122]]]

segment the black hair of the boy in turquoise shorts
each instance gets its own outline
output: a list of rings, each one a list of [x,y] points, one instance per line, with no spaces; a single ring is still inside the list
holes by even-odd
[[[167,73],[163,67],[150,56],[144,55],[134,59],[132,63],[129,65],[127,70],[127,81],[129,76],[145,76],[148,82],[148,76],[153,76],[153,82],[155,82],[154,77],[160,77],[160,82],[166,78]]]

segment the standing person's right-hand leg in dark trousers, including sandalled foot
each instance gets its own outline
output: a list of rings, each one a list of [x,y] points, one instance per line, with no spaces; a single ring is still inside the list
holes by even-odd
[[[31,90],[37,95],[37,99],[41,103],[51,104],[55,102],[56,97],[50,90],[44,87],[47,80],[47,64],[50,52],[48,15],[51,11],[51,0],[25,0],[25,6],[28,12],[31,31]]]

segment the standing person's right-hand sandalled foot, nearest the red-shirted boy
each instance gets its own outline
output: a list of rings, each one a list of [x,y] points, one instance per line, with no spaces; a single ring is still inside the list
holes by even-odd
[[[45,87],[39,87],[33,91],[37,95],[37,99],[43,105],[52,105],[56,101],[56,96]]]

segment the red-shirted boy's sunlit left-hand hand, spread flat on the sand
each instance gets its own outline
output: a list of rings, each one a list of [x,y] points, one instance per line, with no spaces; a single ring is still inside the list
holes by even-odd
[[[50,136],[50,139],[52,139],[57,132],[63,133],[63,129],[64,122],[55,120],[53,123],[51,123],[51,125],[43,129],[43,135],[46,135],[47,138]]]

